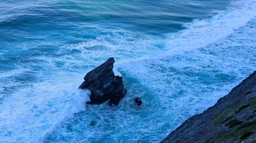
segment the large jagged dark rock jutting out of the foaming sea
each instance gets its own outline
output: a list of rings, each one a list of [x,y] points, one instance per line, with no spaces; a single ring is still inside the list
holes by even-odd
[[[91,101],[87,104],[101,104],[110,100],[110,105],[118,105],[121,98],[126,95],[127,91],[124,89],[123,77],[115,76],[113,72],[114,63],[114,58],[109,58],[84,77],[84,82],[79,88],[91,91]]]

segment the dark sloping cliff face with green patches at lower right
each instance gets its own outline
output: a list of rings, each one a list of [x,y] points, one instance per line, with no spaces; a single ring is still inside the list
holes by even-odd
[[[256,71],[161,142],[256,142]]]

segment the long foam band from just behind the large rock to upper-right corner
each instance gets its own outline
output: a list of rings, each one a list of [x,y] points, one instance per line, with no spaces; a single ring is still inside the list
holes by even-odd
[[[232,1],[228,10],[219,11],[211,18],[193,20],[184,24],[184,30],[169,33],[166,35],[167,38],[126,31],[109,32],[86,42],[63,46],[59,52],[63,54],[76,49],[81,52],[75,57],[76,60],[92,62],[92,64],[100,64],[106,57],[120,58],[120,62],[129,62],[180,55],[206,47],[231,35],[234,29],[245,26],[255,16],[255,0]]]

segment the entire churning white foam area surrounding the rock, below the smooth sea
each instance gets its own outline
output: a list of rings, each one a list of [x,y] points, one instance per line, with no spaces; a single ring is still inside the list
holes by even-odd
[[[26,64],[22,70],[1,73],[1,80],[10,83],[1,87],[22,88],[1,101],[0,142],[62,142],[63,135],[74,142],[97,141],[95,135],[114,142],[160,141],[163,132],[167,135],[191,115],[213,105],[253,70],[255,23],[246,23],[256,15],[255,4],[254,0],[233,1],[228,10],[194,20],[164,38],[117,31],[62,46],[54,53],[57,58],[31,59],[32,67],[38,60],[45,61],[37,76],[49,74],[43,80],[32,78],[35,83],[17,83],[28,80],[24,76],[31,71],[24,70],[29,69]],[[88,94],[78,89],[81,74],[106,57],[115,57],[114,72],[126,78],[128,94],[117,108],[90,107],[77,119],[74,113],[86,110],[84,103],[89,101]],[[0,92],[8,91],[0,88]],[[131,104],[135,97],[144,102],[139,108]],[[73,118],[82,122],[69,122]],[[78,131],[70,133],[62,123],[65,127],[74,123]]]

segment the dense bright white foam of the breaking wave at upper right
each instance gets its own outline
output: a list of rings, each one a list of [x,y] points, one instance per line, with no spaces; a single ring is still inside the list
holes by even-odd
[[[166,45],[170,50],[162,55],[179,55],[203,48],[231,35],[234,29],[245,26],[255,16],[255,0],[233,1],[228,10],[208,19],[184,24],[185,29],[178,33],[169,33]]]

